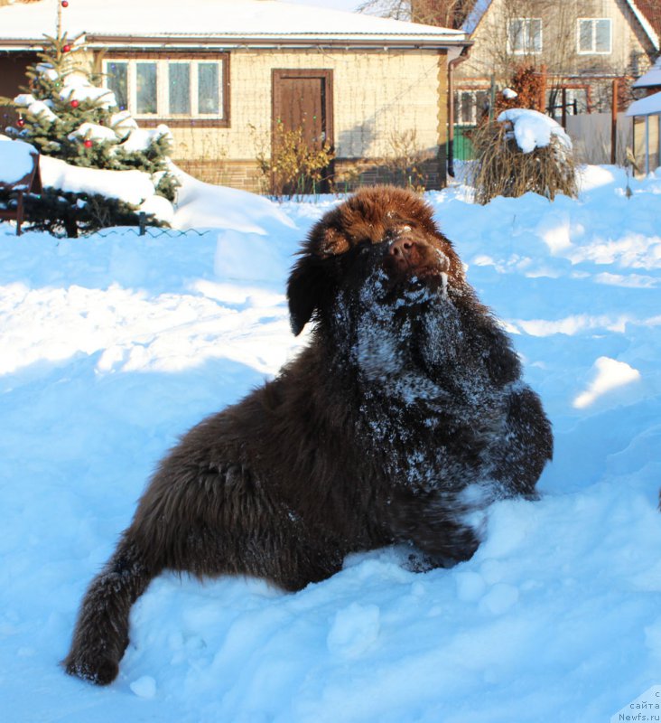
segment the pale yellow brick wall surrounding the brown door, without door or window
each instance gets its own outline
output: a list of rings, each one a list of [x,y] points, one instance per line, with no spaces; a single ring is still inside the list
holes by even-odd
[[[397,140],[425,157],[427,187],[445,182],[446,56],[433,51],[230,53],[227,128],[172,128],[175,162],[214,183],[265,190],[256,155],[270,154],[272,70],[333,71],[336,183],[394,180]],[[442,148],[442,151],[439,151]]]

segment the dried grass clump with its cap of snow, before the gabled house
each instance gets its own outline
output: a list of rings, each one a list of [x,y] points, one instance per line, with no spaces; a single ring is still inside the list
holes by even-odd
[[[470,172],[475,201],[521,196],[528,191],[553,200],[578,195],[572,141],[553,118],[536,110],[510,108],[472,137]]]

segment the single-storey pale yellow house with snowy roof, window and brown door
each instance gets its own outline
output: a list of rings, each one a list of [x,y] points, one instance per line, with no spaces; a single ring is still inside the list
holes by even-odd
[[[0,95],[24,84],[58,5],[0,6]],[[427,188],[445,183],[448,63],[469,44],[463,31],[275,0],[77,0],[61,12],[119,105],[143,127],[169,126],[175,162],[203,180],[267,190],[256,158],[275,129],[301,127],[331,144],[340,190],[393,180],[404,159]]]

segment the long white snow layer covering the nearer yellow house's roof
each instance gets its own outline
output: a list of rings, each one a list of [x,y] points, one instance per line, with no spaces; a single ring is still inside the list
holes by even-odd
[[[0,7],[3,41],[42,41],[53,33],[56,0]],[[63,29],[70,37],[85,33],[98,38],[214,38],[228,42],[274,40],[305,42],[461,43],[466,33],[448,28],[306,7],[277,0],[84,0],[62,11]]]

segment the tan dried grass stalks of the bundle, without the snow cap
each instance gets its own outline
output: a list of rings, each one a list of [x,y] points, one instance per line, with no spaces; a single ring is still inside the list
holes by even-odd
[[[576,198],[572,149],[552,135],[548,146],[524,153],[507,125],[487,123],[471,139],[477,159],[470,171],[475,201],[484,205],[496,196],[517,197],[528,191],[551,201],[556,193]]]

